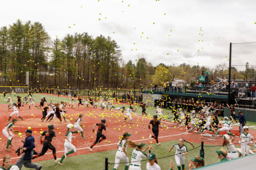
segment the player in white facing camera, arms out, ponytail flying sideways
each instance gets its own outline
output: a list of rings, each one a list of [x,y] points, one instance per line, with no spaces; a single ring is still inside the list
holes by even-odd
[[[187,155],[187,146],[183,144],[184,141],[185,141],[184,139],[179,139],[179,143],[173,145],[171,149],[169,149],[169,152],[171,152],[173,148],[176,148],[175,161],[179,170],[185,169],[185,155]],[[185,142],[190,143],[188,141],[185,141]],[[192,143],[190,144],[194,148],[194,145]]]

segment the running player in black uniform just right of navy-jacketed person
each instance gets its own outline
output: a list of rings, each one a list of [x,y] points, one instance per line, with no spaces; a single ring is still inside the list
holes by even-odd
[[[45,155],[45,153],[48,151],[48,149],[51,149],[53,151],[53,157],[55,159],[55,162],[58,162],[60,160],[60,158],[57,159],[56,149],[51,144],[52,139],[56,139],[55,131],[53,131],[53,129],[54,129],[53,124],[50,124],[48,126],[48,129],[46,131],[43,131],[43,134],[40,135],[40,141],[41,141],[41,144],[43,144],[43,148],[42,148],[41,153],[33,156],[32,159],[35,159],[37,157],[41,157],[41,156]],[[43,135],[45,136],[44,140],[42,139]]]

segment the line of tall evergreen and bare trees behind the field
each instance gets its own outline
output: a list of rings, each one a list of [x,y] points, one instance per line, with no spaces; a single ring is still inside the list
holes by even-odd
[[[52,39],[39,22],[23,23],[19,19],[0,29],[0,84],[26,86],[29,72],[30,86],[59,88],[133,88],[153,86],[174,78],[185,82],[196,81],[208,70],[214,78],[228,74],[227,64],[215,68],[206,66],[153,66],[144,54],[136,54],[136,62],[122,58],[119,45],[111,37],[88,33],[67,34],[63,39]],[[243,72],[233,68],[236,78],[245,74],[254,77],[255,70]]]

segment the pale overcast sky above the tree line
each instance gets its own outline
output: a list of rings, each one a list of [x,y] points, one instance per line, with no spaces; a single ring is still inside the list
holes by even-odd
[[[75,32],[110,36],[124,60],[135,62],[141,53],[154,66],[228,64],[230,42],[256,42],[255,0],[0,0],[0,5],[0,27],[21,19],[39,21],[52,39]]]

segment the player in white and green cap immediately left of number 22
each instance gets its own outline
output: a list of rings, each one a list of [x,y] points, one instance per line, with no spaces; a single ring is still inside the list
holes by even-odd
[[[127,154],[127,139],[129,139],[130,133],[123,133],[120,141],[117,143],[117,153],[115,154],[115,167],[113,170],[116,170],[119,167],[120,161],[125,163],[125,170],[129,168],[129,155]]]

